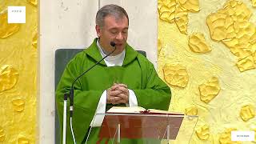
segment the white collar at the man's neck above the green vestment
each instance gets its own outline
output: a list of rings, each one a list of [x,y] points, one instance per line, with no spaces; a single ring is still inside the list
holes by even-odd
[[[97,46],[100,54],[102,55],[102,58],[106,56],[106,54],[103,52],[102,46],[100,46],[98,40],[97,40]],[[122,66],[122,62],[125,59],[126,56],[126,50],[122,50],[122,53],[114,56],[108,56],[104,59],[106,66]]]

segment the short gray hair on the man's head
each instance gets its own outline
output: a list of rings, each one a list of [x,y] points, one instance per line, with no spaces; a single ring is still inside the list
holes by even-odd
[[[128,20],[129,25],[129,18],[128,14],[126,13],[126,10],[124,10],[121,6],[113,4],[103,6],[100,10],[98,10],[96,14],[96,25],[100,27],[104,26],[104,18],[106,18],[106,16],[109,15],[114,16],[114,18],[116,19],[120,19],[125,16]]]

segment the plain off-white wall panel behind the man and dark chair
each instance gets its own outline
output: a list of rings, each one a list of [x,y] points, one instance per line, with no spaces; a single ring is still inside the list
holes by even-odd
[[[54,143],[54,51],[58,48],[90,46],[98,6],[115,2],[130,17],[128,43],[145,50],[156,67],[157,1],[156,0],[43,0],[39,20],[39,142]],[[136,4],[136,5],[134,5]]]

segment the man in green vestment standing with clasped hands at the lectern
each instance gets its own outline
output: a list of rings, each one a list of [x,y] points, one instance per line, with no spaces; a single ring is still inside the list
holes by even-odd
[[[90,126],[87,143],[96,143],[101,118],[97,113],[105,113],[112,106],[142,106],[146,109],[168,110],[170,88],[158,77],[153,64],[142,54],[138,54],[126,43],[129,18],[126,10],[116,5],[103,6],[96,15],[98,38],[85,50],[78,53],[66,66],[56,90],[58,118],[63,120],[63,95],[68,93],[72,82],[90,66],[113,50],[110,42],[115,42],[116,50],[109,57],[94,66],[74,83],[73,130],[77,143],[84,142]],[[61,126],[62,127],[62,126]],[[67,117],[66,142],[73,143]],[[121,143],[134,143],[128,140]]]

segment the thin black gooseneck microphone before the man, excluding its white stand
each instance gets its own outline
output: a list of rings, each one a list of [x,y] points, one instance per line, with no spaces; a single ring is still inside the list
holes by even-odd
[[[110,45],[114,47],[114,50],[116,50],[116,43],[115,42],[110,42]],[[106,57],[108,57],[110,54],[114,53],[114,50],[112,50],[109,54],[106,54],[104,58],[102,58],[100,61],[96,62],[94,66],[98,65],[99,62],[102,62]],[[78,81],[79,78],[81,78],[84,74],[86,74],[89,70],[94,68],[94,66],[91,66],[88,70],[83,72],[78,76],[78,78],[74,79],[74,82],[72,83],[72,86],[70,87],[70,117],[73,116],[73,105],[74,105],[74,83]]]

